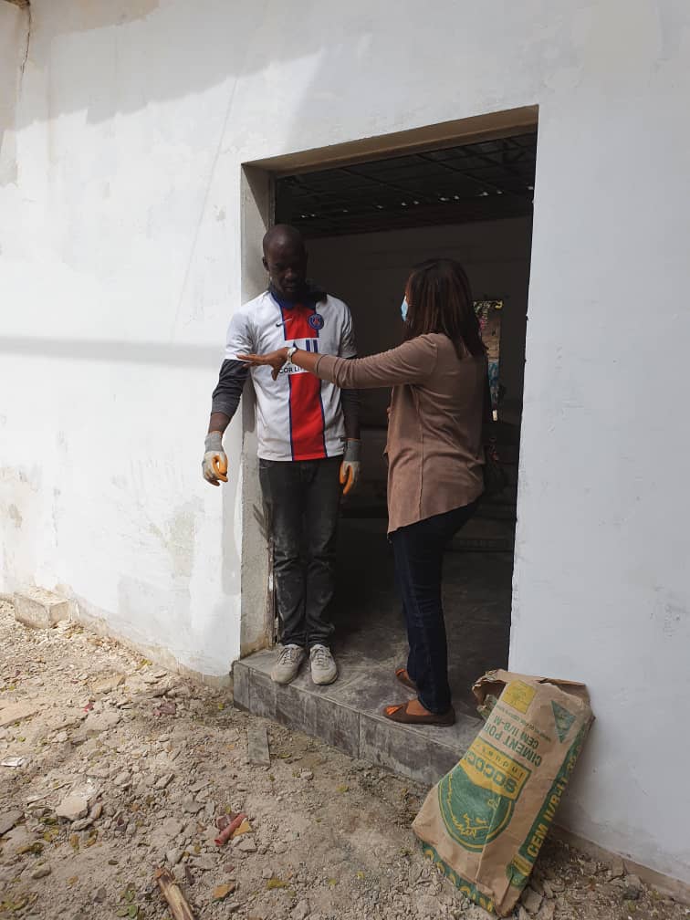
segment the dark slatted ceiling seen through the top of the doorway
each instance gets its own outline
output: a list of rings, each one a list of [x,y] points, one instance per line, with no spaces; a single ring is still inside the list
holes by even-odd
[[[276,181],[276,222],[307,237],[532,213],[536,132]]]

